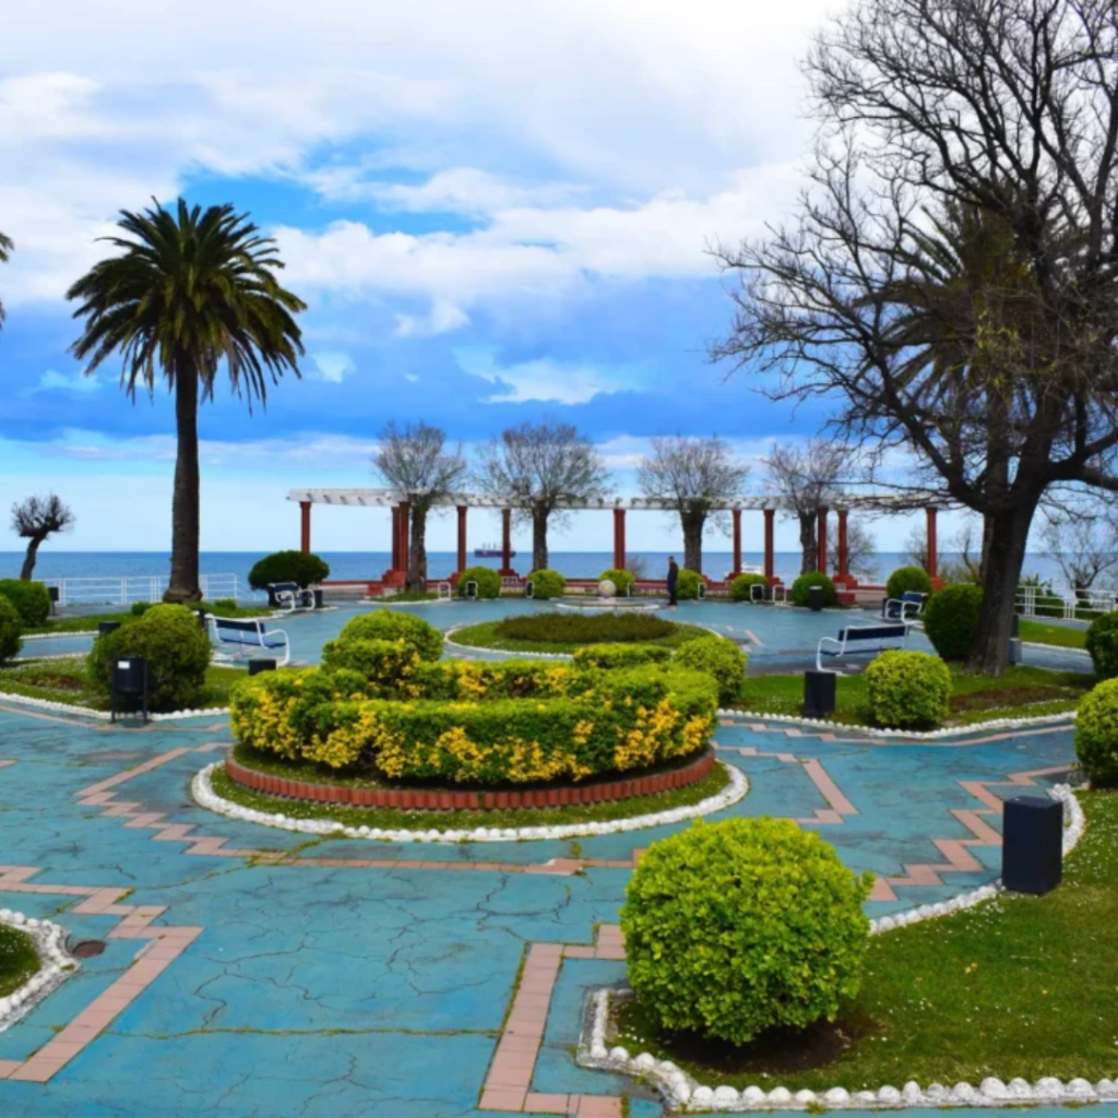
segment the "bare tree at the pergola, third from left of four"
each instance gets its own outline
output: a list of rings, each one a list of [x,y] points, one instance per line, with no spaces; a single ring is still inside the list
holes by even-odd
[[[673,435],[652,440],[652,454],[636,467],[637,484],[650,500],[665,501],[683,525],[683,566],[702,571],[702,533],[708,520],[724,529],[714,505],[738,496],[749,466],[736,461],[717,435]]]

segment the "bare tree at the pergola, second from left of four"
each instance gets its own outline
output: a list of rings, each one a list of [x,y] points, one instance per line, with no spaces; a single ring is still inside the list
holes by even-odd
[[[548,527],[562,524],[570,502],[605,498],[609,472],[588,438],[568,423],[544,418],[509,427],[482,451],[477,483],[515,502],[532,524],[532,570],[548,566]]]

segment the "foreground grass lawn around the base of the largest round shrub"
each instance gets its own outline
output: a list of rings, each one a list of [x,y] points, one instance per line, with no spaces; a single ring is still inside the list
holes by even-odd
[[[1059,889],[874,936],[862,991],[833,1025],[738,1050],[664,1043],[632,1005],[617,1043],[672,1059],[701,1083],[739,1089],[1112,1078],[1118,794],[1084,793],[1081,803],[1087,833]]]

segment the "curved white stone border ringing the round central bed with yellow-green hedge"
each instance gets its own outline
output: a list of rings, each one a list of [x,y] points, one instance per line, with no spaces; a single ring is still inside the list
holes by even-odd
[[[648,815],[632,815],[625,819],[610,819],[604,823],[566,823],[551,827],[474,827],[472,830],[447,831],[389,831],[382,827],[350,827],[333,819],[296,819],[280,812],[257,812],[244,807],[230,799],[225,799],[214,790],[210,779],[214,769],[221,761],[214,761],[198,773],[190,783],[190,790],[196,802],[211,812],[240,819],[247,823],[260,823],[266,827],[281,831],[297,831],[312,835],[338,835],[345,839],[370,839],[378,842],[400,843],[459,843],[459,842],[523,842],[542,839],[581,839],[588,835],[610,835],[623,831],[643,831],[646,827],[662,826],[666,823],[682,823],[700,815],[711,815],[720,812],[738,800],[743,799],[749,792],[749,780],[739,768],[718,761],[729,774],[730,783],[717,796],[708,796],[698,804],[686,807],[673,807],[666,812],[654,812]]]

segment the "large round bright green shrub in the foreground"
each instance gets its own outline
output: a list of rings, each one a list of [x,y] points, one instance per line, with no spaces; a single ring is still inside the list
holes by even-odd
[[[731,1044],[834,1021],[862,983],[872,880],[789,819],[699,822],[629,880],[629,984],[662,1030]]]

